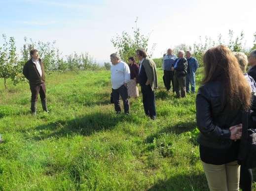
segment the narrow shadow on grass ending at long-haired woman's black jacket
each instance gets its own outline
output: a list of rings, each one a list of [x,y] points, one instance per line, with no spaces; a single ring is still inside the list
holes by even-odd
[[[174,126],[167,126],[161,131],[159,131],[156,134],[150,135],[146,137],[146,143],[152,143],[154,138],[160,137],[162,134],[166,133],[173,133],[176,135],[180,135],[185,132],[190,132],[196,127],[196,122],[195,121],[190,121],[190,122],[181,122],[177,125]]]

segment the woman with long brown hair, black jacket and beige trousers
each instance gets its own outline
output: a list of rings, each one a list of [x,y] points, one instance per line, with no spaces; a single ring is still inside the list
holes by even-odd
[[[203,61],[205,77],[196,97],[200,158],[210,191],[239,191],[237,140],[243,110],[251,106],[251,87],[227,47],[209,49]]]

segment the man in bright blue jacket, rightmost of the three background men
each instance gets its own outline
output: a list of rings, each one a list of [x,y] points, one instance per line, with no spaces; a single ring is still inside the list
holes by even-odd
[[[189,83],[191,84],[191,92],[195,93],[195,72],[198,68],[196,58],[191,56],[190,51],[186,51],[187,75],[186,75],[186,93],[189,93]]]

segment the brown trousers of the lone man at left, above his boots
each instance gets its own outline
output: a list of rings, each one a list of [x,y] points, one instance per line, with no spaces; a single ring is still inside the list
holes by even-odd
[[[31,102],[37,102],[38,94],[40,95],[41,102],[46,100],[45,83],[30,84]]]

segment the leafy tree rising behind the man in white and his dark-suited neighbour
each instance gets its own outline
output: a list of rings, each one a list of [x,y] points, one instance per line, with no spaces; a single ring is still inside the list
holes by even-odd
[[[121,59],[128,62],[130,56],[136,55],[137,49],[144,49],[148,52],[148,40],[150,35],[141,34],[140,29],[137,27],[138,17],[135,21],[136,27],[133,29],[133,35],[131,36],[128,32],[123,31],[122,35],[116,35],[111,39],[111,43],[117,50],[117,53],[121,56]],[[153,44],[151,50],[149,51],[149,57],[152,56],[152,52],[155,48]]]

